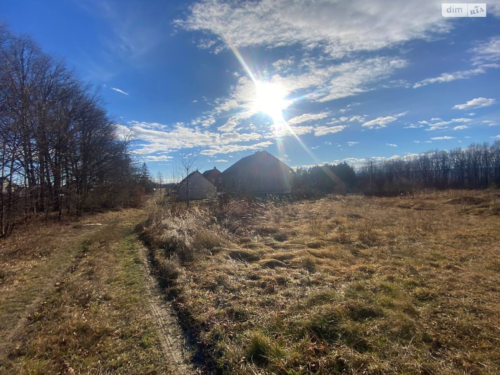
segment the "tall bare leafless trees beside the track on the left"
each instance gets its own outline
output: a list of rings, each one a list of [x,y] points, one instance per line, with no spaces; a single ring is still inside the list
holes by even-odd
[[[64,61],[0,25],[0,235],[41,214],[136,204],[151,181],[122,129]]]

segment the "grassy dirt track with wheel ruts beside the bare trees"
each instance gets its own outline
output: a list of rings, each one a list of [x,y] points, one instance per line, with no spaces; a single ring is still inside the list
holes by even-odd
[[[134,233],[144,216],[109,212],[0,243],[0,373],[200,373]],[[32,245],[19,256],[21,242]]]

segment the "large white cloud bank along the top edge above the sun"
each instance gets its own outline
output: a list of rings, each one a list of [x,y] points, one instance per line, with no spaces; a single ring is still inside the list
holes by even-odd
[[[451,28],[433,1],[394,6],[384,0],[369,5],[362,0],[210,0],[195,3],[189,10],[185,19],[174,23],[214,35],[214,40],[220,38],[227,46],[299,44],[306,49],[320,47],[333,57],[428,38]]]

